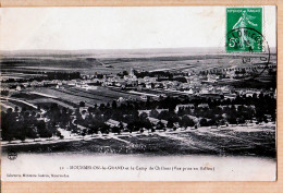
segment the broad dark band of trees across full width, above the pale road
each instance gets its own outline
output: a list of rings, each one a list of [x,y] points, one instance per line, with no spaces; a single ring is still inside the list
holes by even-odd
[[[176,105],[193,104],[192,108],[180,108],[175,112]],[[198,107],[199,104],[208,104],[208,108]],[[222,107],[220,107],[222,105]],[[85,104],[81,102],[79,107]],[[260,94],[253,97],[237,96],[235,99],[204,99],[204,98],[174,98],[165,97],[159,101],[150,100],[126,100],[121,105],[116,101],[112,104],[94,105],[86,110],[73,111],[67,108],[50,104],[45,107],[47,122],[38,119],[40,110],[27,111],[24,108],[20,112],[19,108],[14,111],[9,109],[1,112],[2,138],[12,140],[25,137],[51,137],[59,135],[57,128],[71,130],[81,134],[93,134],[121,131],[143,131],[143,129],[163,130],[165,128],[175,129],[176,126],[207,126],[222,124],[245,123],[247,120],[256,119],[258,122],[268,121],[268,117],[275,121],[276,100],[269,95]],[[148,113],[139,113],[138,110],[149,109]],[[156,109],[168,109],[158,112]],[[158,120],[165,120],[167,124],[159,121],[152,124],[149,117]],[[119,121],[120,124],[110,128],[107,124],[109,119]],[[39,121],[40,120],[40,121]],[[83,131],[82,128],[83,126]]]

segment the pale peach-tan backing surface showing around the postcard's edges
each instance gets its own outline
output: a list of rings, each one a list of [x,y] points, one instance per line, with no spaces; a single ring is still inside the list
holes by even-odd
[[[3,193],[280,193],[283,190],[283,1],[274,0],[1,0],[1,7],[278,5],[278,182],[1,182]]]

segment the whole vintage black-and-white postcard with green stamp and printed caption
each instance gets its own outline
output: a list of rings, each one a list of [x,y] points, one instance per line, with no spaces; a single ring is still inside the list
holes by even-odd
[[[276,7],[0,15],[2,181],[276,180]]]

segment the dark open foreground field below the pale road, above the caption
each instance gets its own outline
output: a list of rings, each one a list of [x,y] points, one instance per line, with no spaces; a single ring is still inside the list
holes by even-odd
[[[274,126],[262,129],[233,128],[225,130],[186,130],[123,134],[115,137],[98,137],[53,144],[4,146],[3,152],[19,153],[98,153],[98,154],[148,154],[148,155],[221,155],[266,156],[274,158]]]

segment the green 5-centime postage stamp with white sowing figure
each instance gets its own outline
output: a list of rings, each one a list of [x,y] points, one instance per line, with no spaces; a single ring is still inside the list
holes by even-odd
[[[226,51],[262,52],[262,8],[226,8]]]

